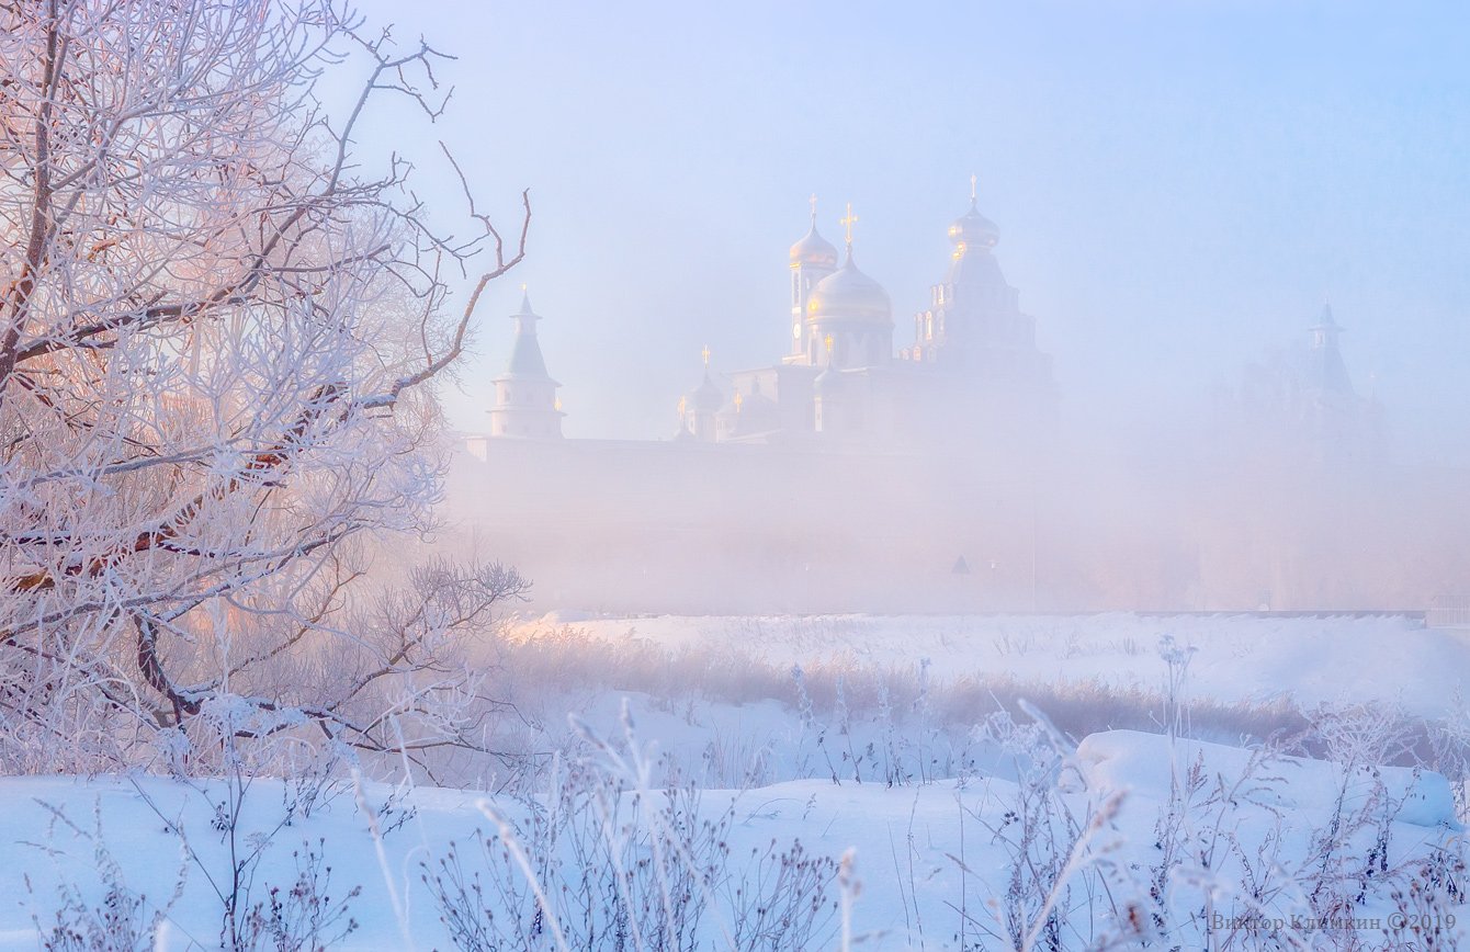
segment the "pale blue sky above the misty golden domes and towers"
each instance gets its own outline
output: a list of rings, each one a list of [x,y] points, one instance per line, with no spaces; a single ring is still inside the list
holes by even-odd
[[[786,345],[807,195],[908,316],[969,175],[1072,426],[1188,407],[1330,295],[1408,455],[1470,442],[1470,15],[1454,3],[387,3],[459,54],[441,134],[528,262],[448,394],[482,429],[531,285],[572,436],[667,436],[709,344]],[[406,126],[369,145],[415,154]],[[425,134],[435,134],[434,129]],[[415,137],[419,132],[413,132]],[[381,138],[375,138],[381,137]],[[432,201],[456,194],[420,182]]]

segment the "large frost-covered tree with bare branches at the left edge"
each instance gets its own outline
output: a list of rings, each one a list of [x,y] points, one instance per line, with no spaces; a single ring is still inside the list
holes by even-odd
[[[0,768],[476,743],[454,632],[522,580],[348,598],[426,524],[426,385],[529,225],[454,239],[354,147],[440,113],[438,57],[322,0],[0,1]]]

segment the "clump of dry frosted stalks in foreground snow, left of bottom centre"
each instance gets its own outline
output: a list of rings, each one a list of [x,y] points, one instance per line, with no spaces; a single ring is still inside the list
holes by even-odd
[[[423,864],[456,948],[639,952],[808,949],[836,926],[838,867],[800,840],[732,855],[734,804],[701,809],[662,773],[626,708],[620,742],[579,724],[585,745],[547,771],[541,796],[482,801],[492,826]]]

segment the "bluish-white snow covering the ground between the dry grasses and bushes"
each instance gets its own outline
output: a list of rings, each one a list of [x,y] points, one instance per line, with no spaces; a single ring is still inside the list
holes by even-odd
[[[863,666],[911,666],[929,658],[938,676],[1008,674],[1020,682],[1086,682],[1157,689],[1161,664],[1157,639],[1172,635],[1198,651],[1191,661],[1191,692],[1222,701],[1260,701],[1291,695],[1298,702],[1382,699],[1423,714],[1444,714],[1470,671],[1470,649],[1460,636],[1419,627],[1407,619],[1258,619],[1258,617],[822,617],[731,619],[566,617],[526,620],[522,627],[573,624],[607,639],[651,639],[670,648],[735,643],[773,664],[845,660]],[[710,732],[695,721],[722,724],[723,755],[742,760],[742,739],[776,732],[800,733],[794,713],[775,701],[679,711],[653,698],[631,698],[641,736],[685,761],[707,749]],[[579,707],[579,717],[604,735],[616,733],[622,698],[601,695]],[[760,740],[750,742],[759,746]],[[682,748],[688,748],[681,751]],[[800,746],[800,745],[797,745]],[[1157,824],[1170,790],[1194,783],[1204,804],[1191,823],[1232,830],[1248,855],[1279,842],[1282,855],[1302,861],[1317,833],[1339,811],[1374,809],[1385,817],[1392,864],[1401,865],[1451,846],[1463,836],[1445,777],[1404,768],[1342,765],[1161,735],[1110,730],[1078,745],[1063,770],[1063,799],[1086,815],[1100,804],[1117,812],[1100,836],[1110,862],[1147,876],[1155,859]],[[789,765],[786,765],[789,767]],[[861,890],[854,904],[860,949],[944,949],[960,946],[957,905],[983,918],[983,899],[1007,889],[1005,818],[1017,796],[1016,770],[983,764],[963,779],[889,787],[878,777],[833,783],[817,779],[769,783],[747,790],[704,790],[701,814],[734,809],[731,855],[751,855],[772,842],[800,840],[810,854],[841,858],[854,851]],[[785,768],[776,773],[784,773]],[[788,774],[789,776],[789,774]],[[1192,779],[1192,780],[1191,780]],[[1223,795],[1211,799],[1211,792]],[[268,884],[290,886],[293,852],[323,843],[332,896],[351,887],[362,895],[350,914],[360,928],[340,949],[450,949],[432,896],[420,881],[422,864],[442,857],[450,842],[465,845],[494,829],[482,807],[516,814],[522,807],[472,790],[419,787],[406,795],[415,809],[381,840],[368,814],[392,790],[369,785],[360,796],[347,785],[310,817],[276,829],[288,786],[254,782],[238,842],[269,834],[256,873],[254,896]],[[159,777],[7,777],[0,779],[0,949],[38,948],[35,921],[44,927],[59,905],[57,889],[75,884],[91,904],[103,886],[100,849],[122,879],[150,904],[163,904],[182,874],[182,895],[172,905],[159,952],[218,948],[220,901],[212,886],[228,876],[225,834],[213,829],[225,787],[187,786]],[[151,802],[151,805],[150,805]],[[1386,811],[1386,812],[1385,812]],[[1341,814],[1339,814],[1341,815]],[[185,855],[182,829],[196,858]],[[381,848],[381,849],[379,849]],[[1358,837],[1348,855],[1366,855]],[[466,854],[473,859],[476,854]],[[1222,873],[1223,876],[1223,873]],[[835,892],[833,892],[835,895]],[[722,948],[728,904],[711,898],[703,928]],[[1383,896],[1357,909],[1383,917]],[[1470,909],[1460,909],[1470,923]],[[32,920],[35,917],[35,920]],[[994,923],[992,923],[994,926]],[[819,948],[835,948],[835,920]],[[976,928],[967,926],[973,946]],[[1369,936],[1373,937],[1373,936]],[[1380,939],[1379,939],[1380,940]],[[1185,940],[1188,946],[1188,940]],[[986,948],[992,948],[988,945]],[[1070,946],[1069,946],[1070,948]],[[1330,948],[1330,946],[1322,946]]]

